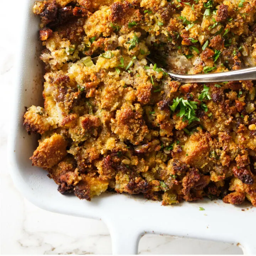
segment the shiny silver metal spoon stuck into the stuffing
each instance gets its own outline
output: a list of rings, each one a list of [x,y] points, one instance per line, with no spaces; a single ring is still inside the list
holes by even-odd
[[[92,60],[97,60],[98,57],[92,58]],[[146,57],[146,59],[155,64],[155,62]],[[206,74],[195,74],[195,75],[180,75],[172,73],[163,69],[172,80],[179,81],[182,83],[189,82],[225,82],[225,81],[240,81],[240,80],[256,80],[256,67],[245,68],[239,70],[232,70],[220,73],[206,73]]]

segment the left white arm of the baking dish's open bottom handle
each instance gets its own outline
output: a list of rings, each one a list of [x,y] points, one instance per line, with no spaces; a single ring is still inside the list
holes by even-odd
[[[123,219],[123,222],[126,222],[126,220]],[[120,225],[111,223],[108,228],[111,235],[113,255],[138,254],[139,240],[143,233],[134,229],[134,225],[124,226],[123,223],[120,223]]]

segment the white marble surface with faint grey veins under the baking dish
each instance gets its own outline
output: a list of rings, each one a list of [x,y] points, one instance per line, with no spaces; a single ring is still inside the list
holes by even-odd
[[[111,238],[106,225],[97,220],[60,215],[39,209],[14,187],[7,164],[7,133],[11,123],[8,112],[15,78],[15,31],[26,0],[12,0],[1,6],[0,85],[1,85],[1,254],[111,254]],[[2,1],[9,5],[9,1]],[[9,11],[6,11],[9,10]],[[15,19],[14,19],[15,17]],[[56,193],[58,191],[56,190]],[[140,254],[241,254],[235,245],[145,235]]]

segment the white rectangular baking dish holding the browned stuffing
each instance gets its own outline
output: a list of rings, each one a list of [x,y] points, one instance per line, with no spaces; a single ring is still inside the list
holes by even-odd
[[[38,57],[39,20],[32,13],[33,2],[27,0],[24,7],[23,43],[16,49],[21,53],[18,77],[11,90],[14,110],[10,112],[13,116],[9,136],[10,170],[24,196],[52,212],[102,219],[110,229],[113,254],[137,254],[139,238],[145,232],[239,243],[245,253],[256,254],[253,208],[242,211],[241,207],[208,200],[164,207],[160,202],[112,193],[93,198],[91,202],[81,201],[75,196],[60,194],[46,171],[31,165],[29,158],[38,138],[26,133],[22,116],[25,106],[42,105],[43,90]],[[199,207],[205,210],[199,211]]]

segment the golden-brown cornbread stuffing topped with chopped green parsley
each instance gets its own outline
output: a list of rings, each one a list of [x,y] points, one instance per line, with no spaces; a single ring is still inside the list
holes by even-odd
[[[256,206],[255,82],[165,72],[255,66],[255,0],[45,0],[33,12],[44,106],[24,126],[41,134],[32,164],[60,193]]]

